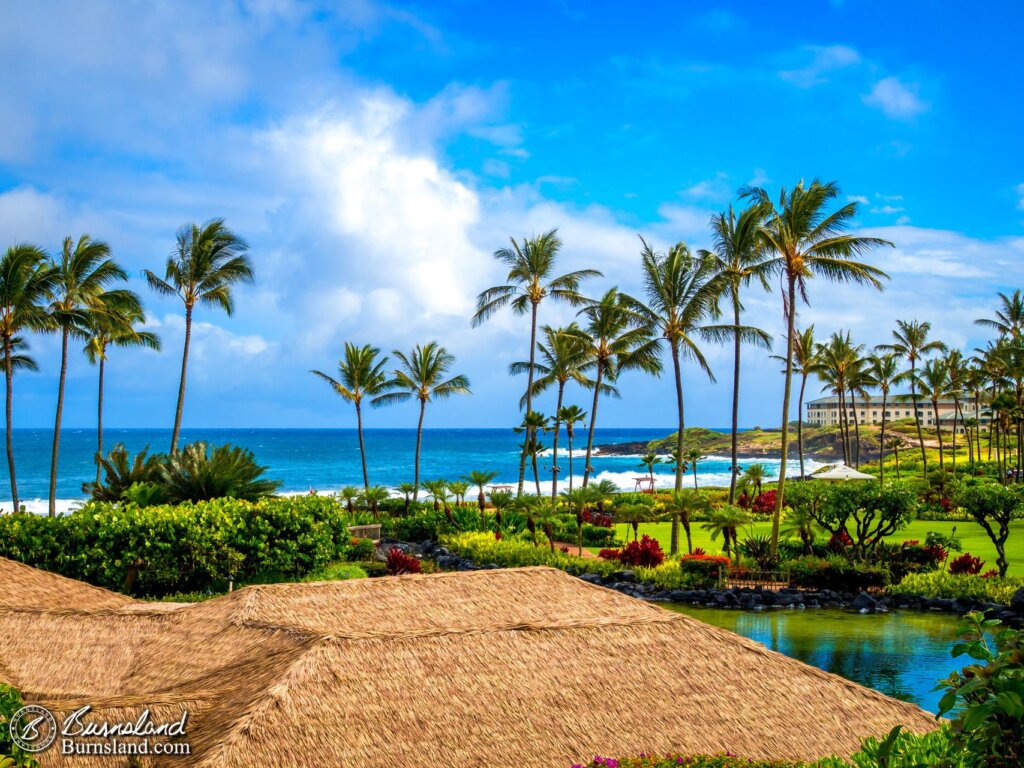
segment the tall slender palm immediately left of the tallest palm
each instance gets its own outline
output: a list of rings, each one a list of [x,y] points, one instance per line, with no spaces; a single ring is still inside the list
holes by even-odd
[[[768,347],[768,334],[756,328],[742,327],[739,316],[743,310],[739,294],[743,286],[752,281],[760,283],[765,291],[771,289],[768,276],[771,269],[771,253],[761,234],[765,218],[765,207],[754,204],[744,208],[737,216],[732,206],[724,213],[711,218],[712,250],[700,254],[714,260],[721,281],[722,294],[732,305],[732,431],[729,441],[731,470],[729,473],[729,504],[736,498],[736,455],[739,439],[739,353],[742,342]]]

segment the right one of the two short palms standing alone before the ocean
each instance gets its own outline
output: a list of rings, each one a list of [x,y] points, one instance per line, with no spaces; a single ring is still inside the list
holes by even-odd
[[[420,420],[416,427],[416,474],[414,482],[417,492],[413,499],[418,498],[420,485],[420,452],[423,447],[423,417],[427,403],[433,400],[443,400],[457,394],[470,394],[469,379],[462,374],[449,376],[455,365],[455,355],[449,352],[436,341],[417,344],[410,354],[394,350],[400,368],[394,371],[389,389],[393,391],[379,394],[371,400],[371,404],[388,406],[394,402],[406,402],[416,399],[420,403]]]

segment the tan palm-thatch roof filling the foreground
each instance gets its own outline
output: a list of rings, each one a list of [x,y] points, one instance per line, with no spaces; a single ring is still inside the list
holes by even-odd
[[[168,606],[0,559],[0,679],[60,713],[188,711],[141,765],[516,765],[854,752],[919,708],[550,568],[239,590]],[[43,753],[43,766],[125,758]]]

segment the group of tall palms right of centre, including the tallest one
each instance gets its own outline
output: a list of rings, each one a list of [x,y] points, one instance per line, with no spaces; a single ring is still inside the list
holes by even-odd
[[[785,457],[788,447],[788,413],[792,382],[796,370],[799,342],[797,313],[800,303],[809,300],[810,281],[814,278],[835,282],[864,284],[878,289],[887,275],[880,269],[857,260],[881,246],[892,244],[848,231],[857,212],[850,202],[835,206],[839,187],[835,182],[801,181],[792,189],[783,188],[772,199],[761,187],[744,187],[739,198],[744,207],[738,213],[732,206],[712,218],[712,248],[696,253],[685,243],[677,243],[667,252],[657,252],[641,238],[642,298],[634,298],[617,288],[610,288],[599,298],[588,298],[583,284],[600,278],[586,269],[558,274],[557,260],[561,241],[556,231],[520,242],[499,250],[495,257],[508,267],[506,282],[489,288],[477,297],[473,325],[479,325],[497,311],[510,307],[530,319],[529,359],[515,362],[511,373],[527,375],[521,407],[525,411],[522,429],[524,440],[519,464],[519,487],[523,492],[527,459],[536,457],[538,433],[544,417],[536,415],[534,398],[544,389],[558,385],[555,413],[550,419],[558,434],[562,423],[564,386],[573,382],[592,392],[590,427],[587,438],[584,485],[593,467],[594,426],[601,394],[617,395],[621,374],[639,371],[660,375],[663,356],[672,362],[678,421],[675,458],[675,490],[682,488],[684,461],[684,376],[683,364],[690,360],[714,380],[701,351],[701,342],[731,343],[732,372],[732,478],[729,501],[736,492],[736,433],[738,431],[740,348],[743,343],[768,346],[768,335],[742,323],[742,294],[751,286],[772,288],[772,280],[781,289],[781,309],[785,334],[785,384],[782,402],[782,463],[777,505],[772,524],[772,548],[778,543],[778,525],[784,494]],[[577,308],[580,321],[563,328],[539,329],[542,303],[568,304]],[[726,315],[731,316],[726,316]],[[539,330],[542,339],[539,341]],[[540,354],[541,360],[538,360]],[[538,376],[540,374],[540,376]],[[555,494],[558,467],[557,445],[553,446],[552,495]],[[540,482],[536,480],[538,490]],[[672,550],[678,551],[679,527],[673,520]]]

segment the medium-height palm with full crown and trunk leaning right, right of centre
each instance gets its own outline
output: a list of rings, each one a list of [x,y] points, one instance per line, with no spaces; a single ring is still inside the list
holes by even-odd
[[[590,481],[594,468],[590,465],[594,453],[594,425],[597,422],[597,403],[601,392],[618,380],[626,371],[656,374],[662,370],[657,340],[645,317],[636,312],[636,299],[608,290],[604,296],[580,310],[586,318],[578,337],[586,345],[587,354],[594,364],[594,400],[590,409],[590,429],[587,433],[587,465],[584,468],[584,487]],[[617,395],[617,390],[614,392]]]

